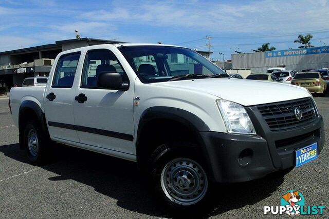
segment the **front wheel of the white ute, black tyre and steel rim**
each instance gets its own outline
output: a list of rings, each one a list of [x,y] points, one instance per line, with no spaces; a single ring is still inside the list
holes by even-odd
[[[206,203],[210,182],[202,160],[189,148],[168,144],[156,148],[149,161],[156,190],[170,210],[195,212]]]

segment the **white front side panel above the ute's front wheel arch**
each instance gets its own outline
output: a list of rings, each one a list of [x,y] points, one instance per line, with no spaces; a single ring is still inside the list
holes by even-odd
[[[174,83],[174,82],[173,82]],[[226,132],[220,111],[216,106],[216,96],[193,90],[159,86],[160,83],[142,84],[135,81],[134,123],[135,137],[142,115],[150,108],[176,108],[173,111],[186,111],[191,117],[199,118],[205,126],[198,126],[198,131]],[[194,116],[193,116],[194,115]],[[187,118],[189,120],[190,118]],[[197,121],[197,119],[195,119]],[[192,121],[191,121],[192,122]]]

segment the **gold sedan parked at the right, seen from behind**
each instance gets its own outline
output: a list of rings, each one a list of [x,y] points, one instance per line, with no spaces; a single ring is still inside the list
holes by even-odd
[[[291,84],[304,87],[311,93],[323,94],[327,89],[323,75],[318,71],[300,72]]]

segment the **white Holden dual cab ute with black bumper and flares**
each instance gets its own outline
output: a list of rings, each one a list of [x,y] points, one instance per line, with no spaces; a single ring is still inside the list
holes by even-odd
[[[46,162],[54,142],[130,160],[175,209],[204,203],[213,182],[303,165],[324,145],[306,89],[232,78],[188,48],[104,44],[54,63],[46,87],[10,91],[30,162]]]

